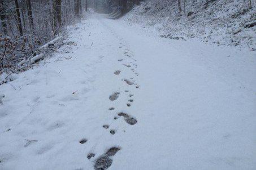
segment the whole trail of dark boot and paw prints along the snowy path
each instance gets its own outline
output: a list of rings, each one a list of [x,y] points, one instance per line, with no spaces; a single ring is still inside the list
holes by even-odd
[[[122,39],[120,39],[120,41],[121,40]],[[120,44],[122,44],[124,46],[123,43],[120,43]],[[119,47],[119,48],[121,49],[122,47]],[[125,49],[123,54],[124,54],[125,57],[127,57],[127,59],[119,59],[118,61],[123,66],[125,66],[126,68],[131,69],[132,73],[134,75],[136,75],[136,77],[137,77],[138,73],[135,70],[137,68],[137,64],[133,63],[136,60],[133,59],[132,55],[129,53],[129,50],[127,50],[127,49]],[[128,63],[122,63],[122,62],[127,61],[127,60],[132,60],[132,61],[130,61],[129,64]],[[122,73],[123,72],[121,70],[118,70],[118,69],[114,71],[114,75],[115,76],[119,76]],[[136,89],[140,88],[140,86],[137,83],[135,83],[135,80],[134,80],[133,77],[131,77],[129,79],[128,78],[122,79],[122,81],[125,82],[125,84],[127,84],[128,87],[129,86],[135,86]],[[128,90],[124,90],[124,92],[128,93],[129,91]],[[114,102],[115,100],[118,100],[120,93],[121,92],[119,92],[119,91],[113,92],[109,96],[109,100],[112,101],[112,102]],[[133,93],[129,93],[129,95],[128,95],[128,102],[125,102],[124,106],[126,105],[127,108],[130,108],[132,106],[132,102],[134,102],[134,100],[132,99],[133,96],[134,96]],[[111,106],[109,108],[109,110],[110,111],[114,111],[115,108]],[[129,114],[124,113],[124,112],[118,112],[117,115],[114,117],[114,120],[117,120],[119,118],[123,118],[124,122],[128,123],[131,126],[133,126],[134,124],[137,123],[137,119],[136,118],[134,118],[132,115],[129,115]],[[103,126],[102,126],[102,128],[109,130],[111,135],[115,135],[116,130],[112,129],[110,127],[111,126],[109,124],[103,124]],[[79,142],[80,142],[80,144],[85,144],[87,141],[88,140],[86,138],[83,138]],[[94,169],[96,169],[96,170],[108,169],[111,166],[112,162],[113,162],[113,160],[112,160],[113,156],[116,153],[118,153],[119,150],[121,150],[121,147],[110,147],[110,149],[108,149],[105,154],[102,154],[101,156],[98,156],[98,158],[93,161],[94,162]],[[92,159],[92,158],[94,158],[94,156],[96,156],[95,153],[88,153],[87,158],[88,159]]]

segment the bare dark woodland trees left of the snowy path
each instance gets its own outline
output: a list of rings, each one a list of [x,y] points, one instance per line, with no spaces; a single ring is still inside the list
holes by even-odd
[[[138,4],[138,0],[132,1]],[[99,13],[127,11],[127,0],[0,0],[0,71],[37,55],[36,50],[80,21],[88,6]]]

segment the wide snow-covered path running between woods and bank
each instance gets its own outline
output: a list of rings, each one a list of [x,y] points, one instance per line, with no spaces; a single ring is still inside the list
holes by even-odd
[[[0,169],[256,168],[255,52],[100,15],[71,40],[0,86]]]

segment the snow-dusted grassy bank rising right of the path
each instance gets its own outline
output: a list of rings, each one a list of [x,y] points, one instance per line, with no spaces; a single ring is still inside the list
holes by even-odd
[[[133,8],[125,19],[145,27],[153,26],[162,37],[199,38],[208,43],[255,50],[256,27],[244,28],[246,23],[256,20],[255,1],[252,1],[252,9],[248,2],[220,0],[206,4],[205,0],[189,0],[184,16],[183,1],[182,12],[179,12],[177,0],[146,0]]]

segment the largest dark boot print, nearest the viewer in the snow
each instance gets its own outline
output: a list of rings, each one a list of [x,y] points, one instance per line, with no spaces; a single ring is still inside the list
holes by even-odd
[[[94,164],[94,169],[96,170],[108,169],[113,162],[111,157],[115,156],[115,154],[118,153],[119,150],[120,150],[119,147],[111,147],[109,150],[107,150],[105,154],[99,156],[99,158],[96,160]]]

